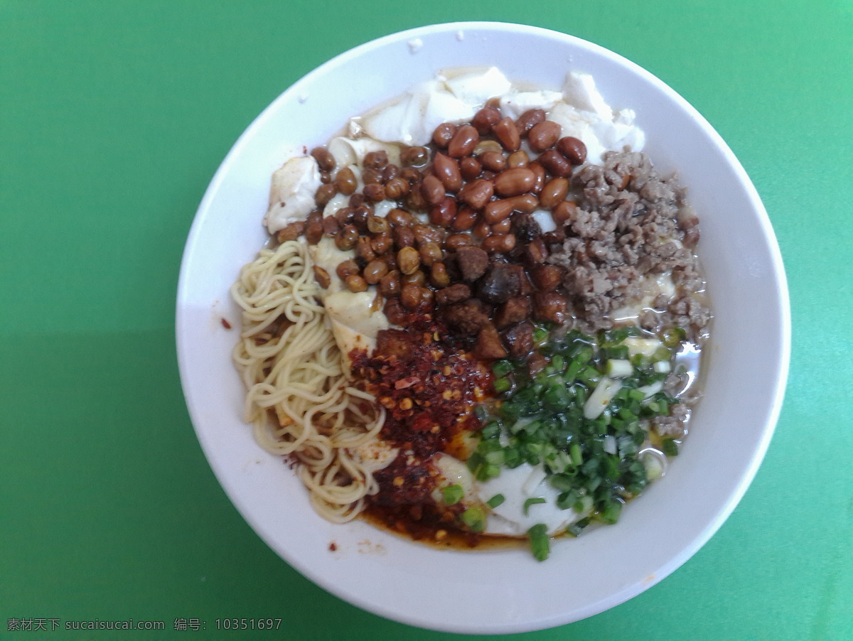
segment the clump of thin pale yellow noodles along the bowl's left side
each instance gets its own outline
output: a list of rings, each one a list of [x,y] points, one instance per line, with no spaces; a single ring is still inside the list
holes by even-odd
[[[320,292],[305,244],[261,250],[231,287],[243,309],[233,357],[258,444],[292,457],[316,511],[344,523],[378,490],[351,449],[376,439],[385,412],[349,384]]]

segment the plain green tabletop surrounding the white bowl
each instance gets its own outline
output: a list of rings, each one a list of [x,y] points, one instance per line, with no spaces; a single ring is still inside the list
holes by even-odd
[[[571,33],[670,84],[751,176],[792,296],[786,400],[732,517],[630,602],[519,638],[853,638],[850,0],[0,2],[0,638],[269,616],[247,638],[459,638],[343,603],[258,539],[196,441],[173,333],[194,211],[252,118],[345,49],[451,20]]]

